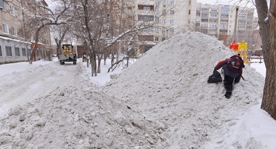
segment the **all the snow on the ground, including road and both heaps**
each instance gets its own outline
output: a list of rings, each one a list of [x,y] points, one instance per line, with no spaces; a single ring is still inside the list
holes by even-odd
[[[207,83],[233,54],[187,32],[127,69],[106,73],[108,61],[97,77],[81,59],[1,65],[0,148],[274,149],[276,122],[260,109],[264,63],[244,68],[230,99],[222,83]]]

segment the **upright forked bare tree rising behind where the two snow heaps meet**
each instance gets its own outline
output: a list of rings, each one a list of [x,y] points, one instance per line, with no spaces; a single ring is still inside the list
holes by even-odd
[[[81,39],[86,47],[91,62],[92,77],[97,76],[96,51],[100,38],[100,29],[103,26],[101,12],[105,12],[101,1],[81,0],[74,1],[75,15],[75,35]]]

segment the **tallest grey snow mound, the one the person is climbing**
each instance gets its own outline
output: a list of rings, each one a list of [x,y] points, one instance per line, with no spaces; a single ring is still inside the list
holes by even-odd
[[[204,143],[217,138],[217,148],[246,148],[246,143],[255,140],[228,144],[224,134],[244,110],[259,103],[264,77],[246,66],[246,81],[235,84],[230,99],[224,97],[223,83],[207,83],[217,62],[233,54],[215,37],[199,32],[179,34],[149,50],[110,81],[104,92],[168,123],[162,148],[204,148]]]

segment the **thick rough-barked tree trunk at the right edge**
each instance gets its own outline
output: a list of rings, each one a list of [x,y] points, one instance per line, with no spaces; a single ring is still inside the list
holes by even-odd
[[[276,1],[255,0],[262,37],[266,82],[261,108],[276,119]]]

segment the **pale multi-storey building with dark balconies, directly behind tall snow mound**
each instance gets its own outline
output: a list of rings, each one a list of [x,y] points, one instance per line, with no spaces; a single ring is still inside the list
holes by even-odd
[[[196,0],[134,1],[136,25],[145,28],[138,35],[144,50],[180,32],[195,30]]]

